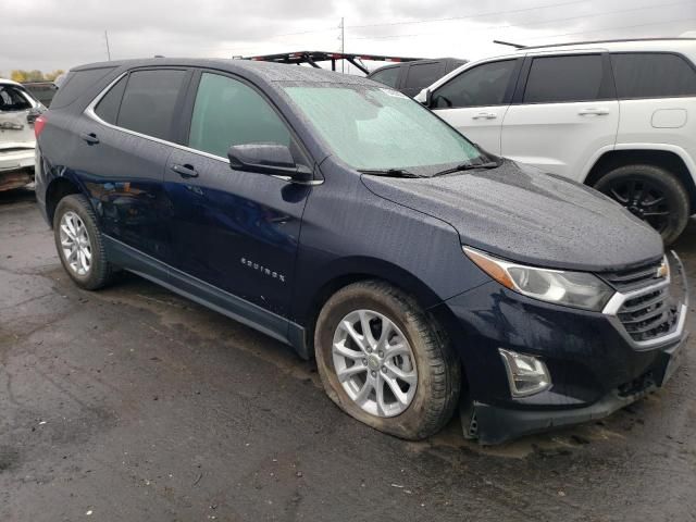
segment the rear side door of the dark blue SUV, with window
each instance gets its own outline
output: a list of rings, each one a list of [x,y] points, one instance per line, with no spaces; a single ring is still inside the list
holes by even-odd
[[[90,105],[73,132],[72,165],[104,234],[170,262],[164,167],[190,71],[135,70]]]

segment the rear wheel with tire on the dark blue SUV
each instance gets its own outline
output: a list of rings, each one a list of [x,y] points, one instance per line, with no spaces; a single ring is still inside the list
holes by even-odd
[[[112,279],[95,212],[82,195],[61,199],[53,214],[55,248],[67,275],[86,290],[96,290]]]

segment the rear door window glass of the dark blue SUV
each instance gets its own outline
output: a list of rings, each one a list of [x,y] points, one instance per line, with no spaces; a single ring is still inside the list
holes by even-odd
[[[161,139],[171,139],[176,99],[185,71],[153,70],[130,73],[116,125]]]

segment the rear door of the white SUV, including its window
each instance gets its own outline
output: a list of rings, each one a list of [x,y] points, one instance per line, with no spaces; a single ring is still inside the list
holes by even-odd
[[[502,122],[501,154],[582,182],[611,150],[619,101],[604,52],[527,55]]]

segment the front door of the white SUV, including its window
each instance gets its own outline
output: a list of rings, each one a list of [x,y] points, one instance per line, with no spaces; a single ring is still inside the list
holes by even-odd
[[[435,113],[494,154],[500,153],[500,129],[522,58],[496,60],[464,69],[432,94]]]

